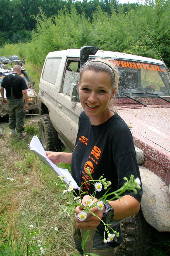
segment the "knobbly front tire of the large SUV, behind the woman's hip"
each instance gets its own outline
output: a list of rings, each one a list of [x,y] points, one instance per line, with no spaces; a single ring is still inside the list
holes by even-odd
[[[123,243],[115,248],[114,256],[146,256],[151,243],[151,227],[141,210],[120,223]]]

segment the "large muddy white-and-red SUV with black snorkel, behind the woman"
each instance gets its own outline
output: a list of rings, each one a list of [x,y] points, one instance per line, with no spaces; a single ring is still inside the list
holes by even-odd
[[[118,114],[131,129],[143,184],[141,209],[121,222],[123,243],[114,255],[148,255],[151,226],[170,231],[170,76],[156,59],[100,51],[97,47],[50,52],[39,83],[40,133],[45,150],[74,149],[82,107],[80,66],[88,59],[112,58],[120,73]]]

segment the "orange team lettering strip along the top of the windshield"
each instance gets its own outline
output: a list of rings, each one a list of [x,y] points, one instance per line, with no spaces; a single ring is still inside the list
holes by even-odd
[[[158,66],[158,65],[154,65],[154,64],[123,61],[123,60],[110,60],[110,62],[112,62],[114,65],[116,64],[117,67],[127,67],[127,68],[133,68],[133,69],[148,69],[148,70],[156,70],[156,71],[165,72],[165,69],[163,69],[162,66]]]

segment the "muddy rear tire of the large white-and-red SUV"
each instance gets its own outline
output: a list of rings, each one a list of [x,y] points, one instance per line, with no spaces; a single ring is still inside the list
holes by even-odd
[[[61,149],[61,142],[58,138],[58,133],[50,121],[49,114],[40,116],[39,130],[44,150],[56,151]]]

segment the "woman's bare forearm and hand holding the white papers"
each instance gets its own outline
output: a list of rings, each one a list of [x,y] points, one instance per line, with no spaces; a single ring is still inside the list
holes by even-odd
[[[71,164],[72,153],[45,151],[47,157],[54,163]]]

